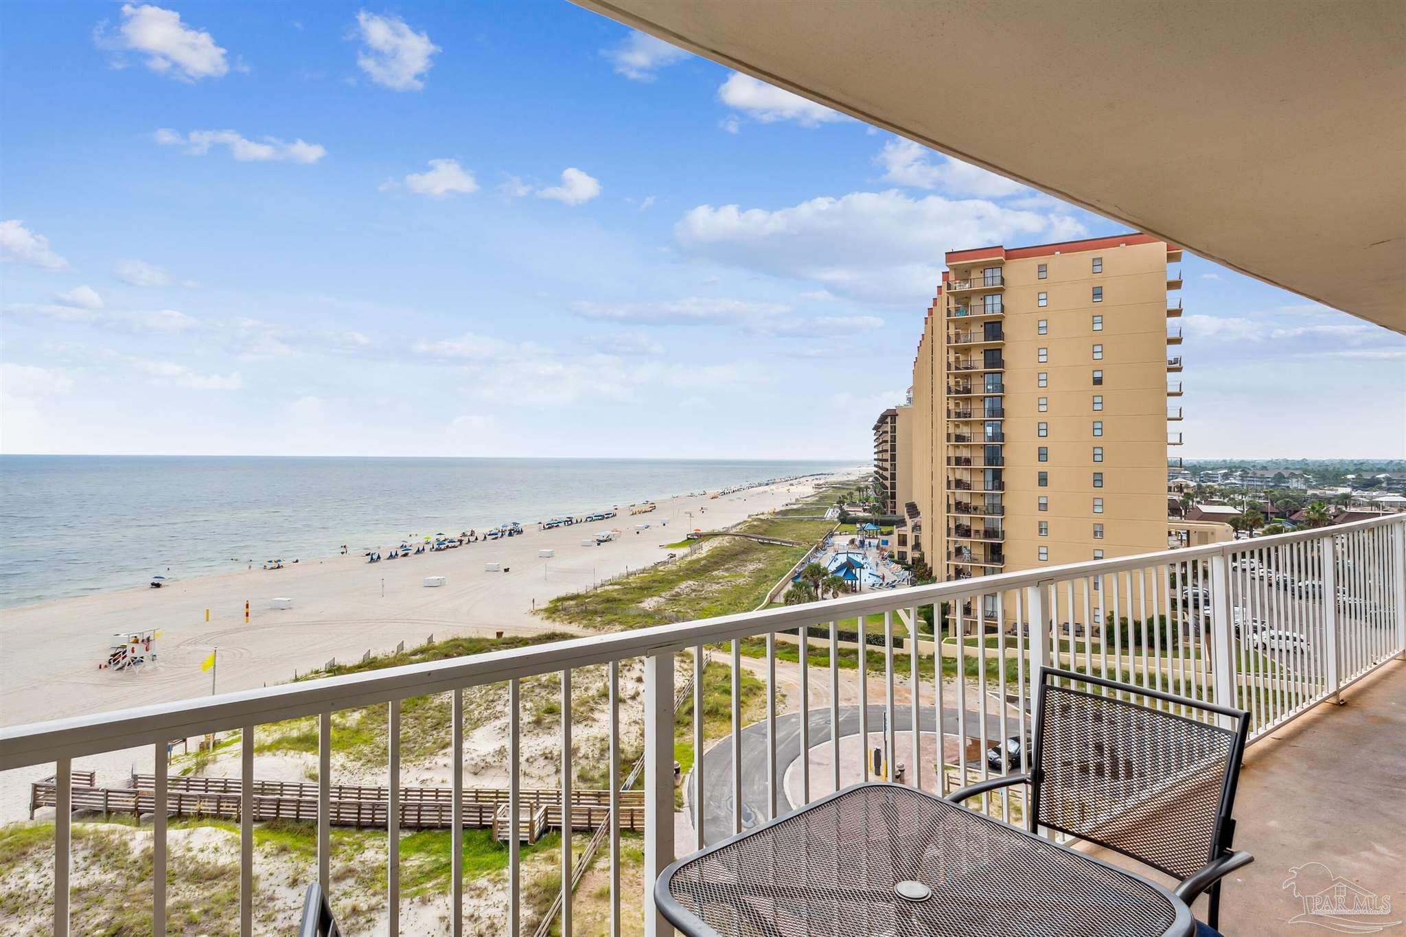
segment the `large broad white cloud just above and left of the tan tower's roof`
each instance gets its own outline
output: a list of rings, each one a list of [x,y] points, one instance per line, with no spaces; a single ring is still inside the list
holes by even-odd
[[[1071,215],[890,190],[776,211],[699,205],[673,233],[695,257],[811,281],[835,295],[908,305],[931,299],[948,250],[1085,232]]]

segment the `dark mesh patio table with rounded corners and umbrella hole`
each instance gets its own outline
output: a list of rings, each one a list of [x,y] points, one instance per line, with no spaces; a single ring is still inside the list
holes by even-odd
[[[924,791],[860,784],[666,868],[693,937],[1187,937],[1167,889]]]

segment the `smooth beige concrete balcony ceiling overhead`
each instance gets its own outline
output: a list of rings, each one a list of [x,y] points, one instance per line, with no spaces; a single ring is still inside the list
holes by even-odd
[[[1406,4],[575,1],[1406,333]]]

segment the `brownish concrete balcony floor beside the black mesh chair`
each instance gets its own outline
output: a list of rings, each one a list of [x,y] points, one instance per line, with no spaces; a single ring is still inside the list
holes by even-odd
[[[1326,702],[1251,745],[1234,818],[1236,848],[1251,853],[1254,863],[1225,879],[1222,933],[1333,933],[1289,923],[1303,902],[1284,885],[1305,863],[1322,863],[1358,888],[1392,896],[1391,915],[1354,920],[1389,924],[1406,917],[1406,662],[1392,660],[1344,690],[1343,705]],[[1174,885],[1121,856],[1091,851]],[[1205,898],[1197,902],[1197,917],[1205,919]],[[1406,923],[1381,933],[1406,934]]]

